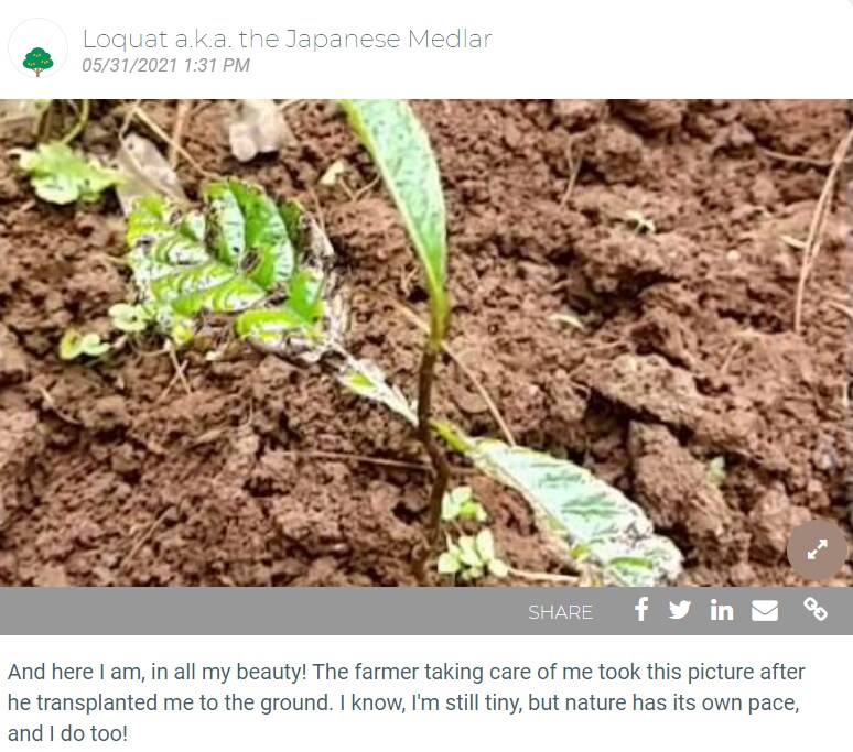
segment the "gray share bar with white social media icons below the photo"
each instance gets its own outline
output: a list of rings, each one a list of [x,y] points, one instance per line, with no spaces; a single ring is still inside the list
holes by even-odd
[[[3,588],[0,634],[853,634],[853,589]]]

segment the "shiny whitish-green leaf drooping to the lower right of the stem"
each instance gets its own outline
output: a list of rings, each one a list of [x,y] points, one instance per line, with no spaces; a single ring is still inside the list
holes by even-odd
[[[565,542],[575,559],[600,571],[605,585],[647,587],[678,577],[681,553],[655,534],[644,511],[618,489],[568,460],[469,438],[445,423],[436,428],[484,473],[518,491],[543,527]]]

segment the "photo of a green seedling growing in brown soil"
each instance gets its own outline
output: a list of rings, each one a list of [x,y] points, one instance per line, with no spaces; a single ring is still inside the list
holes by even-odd
[[[0,140],[0,586],[800,585],[798,525],[851,537],[849,102]]]

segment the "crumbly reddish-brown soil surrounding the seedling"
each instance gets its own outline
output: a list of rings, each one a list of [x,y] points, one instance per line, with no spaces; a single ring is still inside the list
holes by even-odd
[[[422,338],[389,301],[425,315],[425,295],[335,107],[291,107],[295,145],[248,165],[228,153],[230,107],[195,106],[187,151],[315,207],[349,270],[353,349],[411,393]],[[517,439],[640,503],[684,552],[684,582],[800,584],[790,530],[821,516],[850,534],[850,198],[836,201],[797,336],[790,239],[806,237],[827,168],[767,150],[827,161],[849,106],[415,107],[451,214],[452,345]],[[145,108],[171,128],[173,102]],[[110,150],[123,112],[95,113],[84,142]],[[336,160],[353,166],[354,195],[318,186]],[[180,172],[195,192],[196,171]],[[636,210],[654,233],[626,221]],[[185,391],[154,338],[95,367],[57,360],[66,327],[106,333],[126,294],[121,254],[114,199],[33,201],[0,157],[0,585],[415,585],[428,476],[317,453],[424,458],[403,425],[318,370],[190,353]],[[582,330],[553,318],[566,312]],[[441,410],[498,435],[465,375],[445,362],[441,377]],[[717,486],[708,462],[720,456]],[[514,566],[560,570],[523,501],[461,466],[456,480],[474,484]],[[833,584],[851,581],[847,566]]]

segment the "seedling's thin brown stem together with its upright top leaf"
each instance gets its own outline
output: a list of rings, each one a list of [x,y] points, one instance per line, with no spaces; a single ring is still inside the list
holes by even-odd
[[[432,435],[432,386],[435,363],[447,331],[445,291],[447,230],[439,165],[411,107],[399,99],[347,99],[353,130],[361,139],[391,194],[421,262],[430,296],[430,335],[418,379],[418,437],[435,471],[430,493],[430,523],[436,540],[450,467]]]

